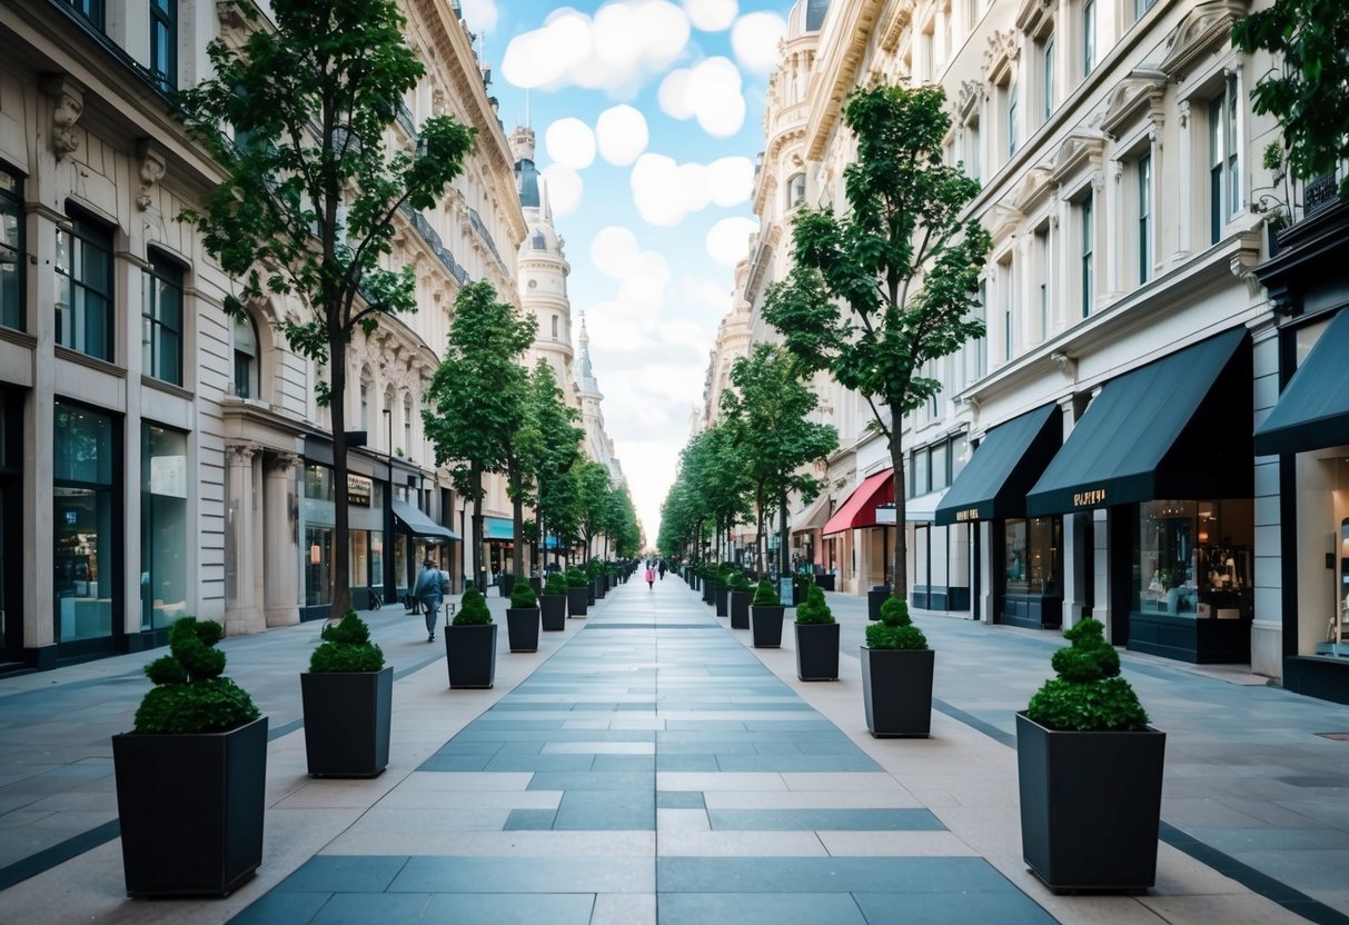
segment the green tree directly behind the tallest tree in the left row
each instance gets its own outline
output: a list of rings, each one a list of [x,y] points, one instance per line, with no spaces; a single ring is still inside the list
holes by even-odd
[[[534,317],[499,302],[491,283],[464,286],[455,299],[445,359],[426,391],[430,407],[422,411],[422,423],[436,448],[436,465],[448,465],[455,491],[473,503],[476,562],[486,561],[484,477],[507,472],[525,425],[529,374],[517,359],[534,342]]]

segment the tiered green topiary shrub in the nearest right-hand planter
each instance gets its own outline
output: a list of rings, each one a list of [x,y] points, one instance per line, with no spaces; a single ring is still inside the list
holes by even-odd
[[[1120,677],[1120,653],[1105,640],[1105,626],[1087,618],[1066,630],[1072,645],[1054,653],[1050,678],[1031,698],[1027,717],[1050,729],[1137,732],[1148,713],[1133,686]]]

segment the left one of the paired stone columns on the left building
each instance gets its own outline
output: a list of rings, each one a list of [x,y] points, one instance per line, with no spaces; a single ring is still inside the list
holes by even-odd
[[[254,460],[258,444],[225,446],[225,635],[262,632],[267,628],[258,605],[258,498],[254,492]]]

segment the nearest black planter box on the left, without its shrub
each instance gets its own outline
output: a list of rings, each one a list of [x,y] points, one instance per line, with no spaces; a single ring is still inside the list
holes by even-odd
[[[229,732],[115,735],[130,897],[223,897],[262,863],[267,717]]]

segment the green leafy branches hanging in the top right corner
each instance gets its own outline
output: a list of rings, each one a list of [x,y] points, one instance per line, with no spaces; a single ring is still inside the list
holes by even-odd
[[[1237,22],[1232,43],[1280,63],[1251,92],[1252,109],[1283,127],[1288,167],[1310,179],[1349,158],[1349,4],[1344,0],[1276,0]],[[1349,198],[1349,174],[1340,178]]]

